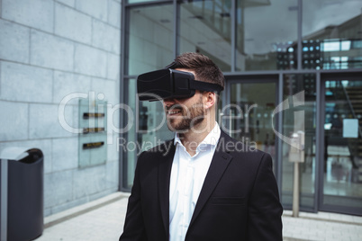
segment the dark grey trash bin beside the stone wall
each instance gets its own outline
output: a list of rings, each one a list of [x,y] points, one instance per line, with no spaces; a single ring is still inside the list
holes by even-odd
[[[32,240],[43,231],[43,155],[6,148],[1,159],[1,241]]]

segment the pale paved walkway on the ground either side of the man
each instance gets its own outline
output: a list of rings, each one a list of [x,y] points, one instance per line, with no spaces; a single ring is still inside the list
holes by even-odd
[[[47,217],[44,220],[46,228],[36,241],[118,240],[122,233],[127,198],[127,193],[117,192]],[[283,236],[286,241],[362,240],[362,217],[302,212],[301,218],[292,218],[291,214],[291,211],[285,210],[283,215]]]

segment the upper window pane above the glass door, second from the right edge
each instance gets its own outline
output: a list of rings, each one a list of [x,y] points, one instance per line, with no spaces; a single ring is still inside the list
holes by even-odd
[[[297,1],[238,0],[236,70],[296,68]]]

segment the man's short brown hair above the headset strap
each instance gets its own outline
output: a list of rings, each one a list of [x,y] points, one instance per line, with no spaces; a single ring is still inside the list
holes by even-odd
[[[224,87],[222,70],[213,63],[213,60],[199,53],[184,53],[177,58],[172,68],[186,68],[195,72],[195,79]]]

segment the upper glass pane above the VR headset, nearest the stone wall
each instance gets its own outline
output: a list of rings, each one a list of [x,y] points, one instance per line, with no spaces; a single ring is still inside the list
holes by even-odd
[[[128,75],[167,66],[173,59],[173,7],[158,4],[131,8],[127,40]]]

